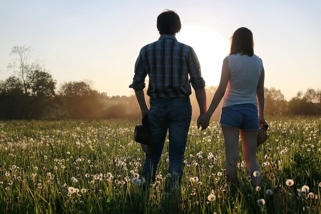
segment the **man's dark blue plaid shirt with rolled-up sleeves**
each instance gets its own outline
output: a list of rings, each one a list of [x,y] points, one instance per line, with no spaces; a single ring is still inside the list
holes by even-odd
[[[160,35],[159,40],[144,46],[135,63],[134,90],[143,90],[149,76],[147,94],[152,98],[188,96],[205,87],[200,65],[193,48],[179,43],[174,35]]]

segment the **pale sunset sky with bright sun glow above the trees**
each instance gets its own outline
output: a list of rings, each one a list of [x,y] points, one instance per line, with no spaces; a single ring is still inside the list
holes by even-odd
[[[57,81],[88,80],[99,92],[131,95],[139,50],[159,38],[157,16],[175,10],[179,42],[194,48],[207,86],[218,85],[230,37],[239,27],[253,32],[265,87],[287,100],[298,91],[321,89],[321,1],[6,1],[0,0],[0,80],[12,75],[13,46],[31,46]],[[211,99],[211,98],[209,98]]]

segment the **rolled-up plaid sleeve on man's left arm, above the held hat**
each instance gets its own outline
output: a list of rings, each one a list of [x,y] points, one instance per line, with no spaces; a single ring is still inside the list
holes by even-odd
[[[132,84],[129,85],[129,88],[132,88],[135,91],[143,90],[146,87],[145,78],[147,76],[147,71],[144,66],[142,52],[143,52],[143,49],[139,53],[139,56],[135,63],[135,74],[134,74],[133,82]]]

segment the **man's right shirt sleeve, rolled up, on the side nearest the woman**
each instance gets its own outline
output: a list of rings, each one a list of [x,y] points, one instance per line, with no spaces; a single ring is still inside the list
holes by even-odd
[[[205,81],[200,72],[200,65],[197,59],[197,55],[193,48],[191,48],[189,62],[188,62],[188,72],[190,75],[189,83],[192,85],[194,90],[201,89],[205,87]]]

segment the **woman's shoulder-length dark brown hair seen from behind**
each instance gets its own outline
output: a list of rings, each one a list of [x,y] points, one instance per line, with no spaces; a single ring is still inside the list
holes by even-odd
[[[241,55],[253,56],[253,34],[249,29],[245,27],[238,28],[233,33],[231,40],[230,55],[240,53]]]

